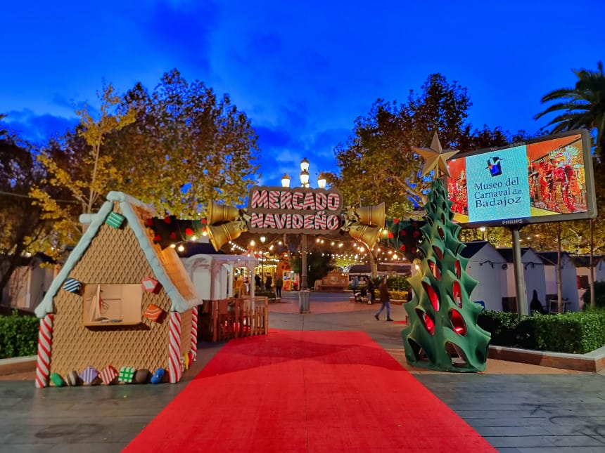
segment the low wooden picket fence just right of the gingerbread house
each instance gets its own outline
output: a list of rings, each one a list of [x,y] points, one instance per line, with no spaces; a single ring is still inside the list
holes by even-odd
[[[226,341],[240,336],[267,334],[269,300],[266,297],[204,301],[198,315],[198,338]]]

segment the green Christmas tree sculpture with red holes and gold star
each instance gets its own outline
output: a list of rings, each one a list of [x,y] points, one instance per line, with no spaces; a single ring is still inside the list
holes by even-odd
[[[439,164],[449,173],[445,159],[455,152],[442,153],[436,133],[431,150],[415,150],[425,157],[438,156],[427,160],[425,172]],[[488,358],[490,334],[477,325],[482,308],[470,295],[478,282],[465,271],[468,259],[460,256],[465,246],[458,239],[460,226],[452,221],[451,204],[442,180],[436,178],[424,206],[426,223],[420,228],[423,258],[420,269],[409,279],[414,298],[404,305],[409,316],[409,326],[402,331],[405,357],[409,365],[417,367],[481,372]]]

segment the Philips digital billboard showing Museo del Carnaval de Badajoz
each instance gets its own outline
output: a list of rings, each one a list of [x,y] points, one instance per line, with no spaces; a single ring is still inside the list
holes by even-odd
[[[594,218],[585,130],[455,155],[447,162],[454,221],[467,227]]]

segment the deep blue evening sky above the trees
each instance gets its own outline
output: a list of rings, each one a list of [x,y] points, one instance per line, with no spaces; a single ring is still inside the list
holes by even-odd
[[[434,72],[468,88],[473,126],[534,133],[540,98],[604,59],[603,17],[601,0],[5,2],[0,113],[42,140],[98,105],[103,79],[152,90],[177,68],[246,112],[262,184],[307,157],[314,185],[356,117]]]

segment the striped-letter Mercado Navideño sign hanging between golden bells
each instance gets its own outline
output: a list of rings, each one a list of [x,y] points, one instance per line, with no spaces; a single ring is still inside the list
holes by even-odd
[[[343,195],[335,189],[254,186],[248,195],[250,232],[337,231],[341,223]]]

